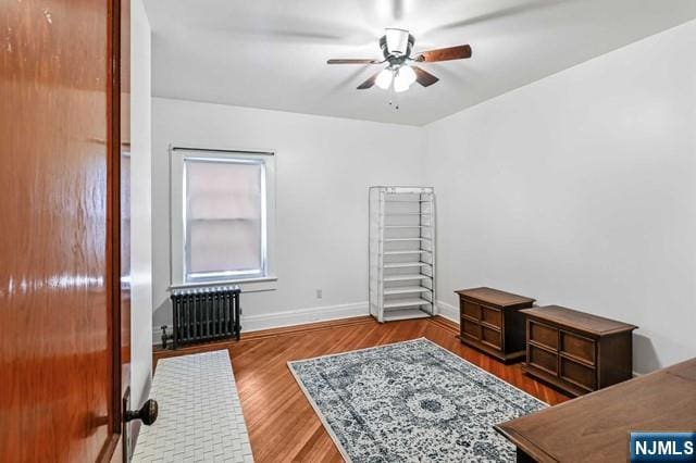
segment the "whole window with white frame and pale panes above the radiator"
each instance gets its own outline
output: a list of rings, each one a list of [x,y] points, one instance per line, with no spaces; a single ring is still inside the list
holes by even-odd
[[[272,153],[172,150],[174,286],[275,279],[274,161]]]

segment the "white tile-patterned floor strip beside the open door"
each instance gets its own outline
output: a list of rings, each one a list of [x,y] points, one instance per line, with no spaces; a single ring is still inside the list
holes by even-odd
[[[159,416],[134,462],[253,462],[226,350],[160,360],[150,397]]]

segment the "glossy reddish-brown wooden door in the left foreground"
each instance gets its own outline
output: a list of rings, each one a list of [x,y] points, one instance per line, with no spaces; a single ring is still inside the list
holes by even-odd
[[[3,461],[108,460],[119,440],[119,11],[0,0]]]

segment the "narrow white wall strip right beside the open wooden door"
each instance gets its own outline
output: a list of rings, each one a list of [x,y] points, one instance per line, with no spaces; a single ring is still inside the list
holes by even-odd
[[[130,1],[130,393],[138,408],[152,375],[150,24]]]

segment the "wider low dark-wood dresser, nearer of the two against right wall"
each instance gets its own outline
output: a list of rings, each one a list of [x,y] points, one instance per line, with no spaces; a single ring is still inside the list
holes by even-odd
[[[525,309],[522,370],[571,396],[633,376],[634,325],[558,305]]]

